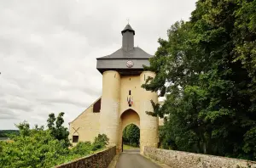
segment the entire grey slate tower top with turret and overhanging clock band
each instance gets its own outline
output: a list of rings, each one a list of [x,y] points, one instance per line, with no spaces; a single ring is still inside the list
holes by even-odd
[[[142,48],[134,47],[135,31],[131,25],[126,25],[122,32],[122,48],[116,52],[97,58],[96,68],[101,73],[106,70],[117,70],[122,76],[138,75],[143,71],[143,64],[149,65],[149,58],[153,57],[143,51]],[[132,61],[133,65],[127,67],[127,61]]]

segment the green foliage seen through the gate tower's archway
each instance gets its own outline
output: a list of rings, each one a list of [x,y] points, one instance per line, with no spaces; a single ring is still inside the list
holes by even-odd
[[[126,126],[123,131],[123,143],[132,147],[139,147],[140,129],[134,124]]]

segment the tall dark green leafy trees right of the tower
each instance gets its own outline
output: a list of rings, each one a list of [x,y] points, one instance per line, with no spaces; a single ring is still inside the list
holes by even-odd
[[[167,32],[142,86],[166,96],[160,146],[256,160],[256,1],[199,0]]]

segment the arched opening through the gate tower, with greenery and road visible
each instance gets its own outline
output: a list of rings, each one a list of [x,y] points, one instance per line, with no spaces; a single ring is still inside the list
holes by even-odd
[[[140,129],[134,124],[125,126],[122,135],[122,151],[140,147]]]

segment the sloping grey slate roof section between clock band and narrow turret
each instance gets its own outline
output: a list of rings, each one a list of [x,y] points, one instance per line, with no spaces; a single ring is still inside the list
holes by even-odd
[[[123,48],[120,48],[110,55],[97,59],[149,59],[151,57],[153,55],[146,53],[142,48],[133,48],[131,51],[125,51]]]

